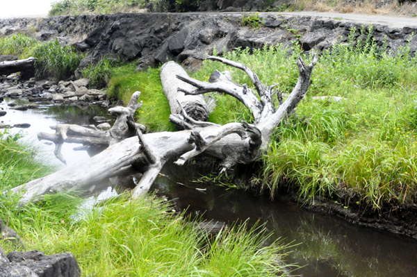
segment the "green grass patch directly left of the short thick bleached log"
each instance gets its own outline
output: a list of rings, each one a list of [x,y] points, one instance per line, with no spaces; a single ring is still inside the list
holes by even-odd
[[[168,121],[170,105],[163,94],[159,68],[147,72],[134,72],[136,65],[122,65],[112,70],[108,83],[108,95],[113,99],[122,99],[129,103],[133,92],[140,91],[142,107],[136,112],[136,119],[147,126],[148,131],[176,131],[174,124]]]

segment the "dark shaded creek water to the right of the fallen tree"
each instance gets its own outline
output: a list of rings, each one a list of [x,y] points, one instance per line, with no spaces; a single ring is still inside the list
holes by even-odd
[[[204,219],[230,224],[260,220],[273,232],[296,244],[287,262],[303,266],[295,271],[306,277],[417,276],[417,242],[348,223],[343,219],[308,212],[286,199],[270,201],[265,196],[224,190],[216,185],[193,183],[193,168],[170,165],[154,185],[158,194],[174,199],[177,210],[188,209]],[[181,174],[183,175],[181,177]],[[183,184],[180,185],[179,183]],[[206,189],[205,193],[196,188]]]

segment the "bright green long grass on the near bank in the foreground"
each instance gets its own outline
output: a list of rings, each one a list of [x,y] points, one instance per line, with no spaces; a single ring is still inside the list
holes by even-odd
[[[19,207],[8,189],[51,168],[33,160],[16,138],[0,140],[0,218],[22,237],[26,251],[72,252],[83,276],[284,276],[277,260],[286,246],[263,247],[260,228],[235,226],[210,237],[153,196],[80,210],[82,199],[56,194]],[[19,250],[2,240],[0,247]]]

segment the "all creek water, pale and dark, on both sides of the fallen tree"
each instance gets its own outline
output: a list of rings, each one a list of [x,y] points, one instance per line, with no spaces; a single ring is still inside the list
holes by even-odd
[[[35,110],[8,110],[8,103],[26,103],[20,99],[5,99],[0,103],[8,114],[0,117],[3,124],[28,123],[26,129],[11,128],[10,133],[23,132],[23,142],[38,150],[38,158],[62,167],[54,157],[54,145],[38,142],[36,133],[46,131],[54,133],[49,126],[54,124],[94,124],[95,115],[106,116],[101,107],[51,106],[41,104]],[[83,151],[72,151],[76,144],[63,147],[63,156],[69,164],[88,158]],[[366,228],[348,223],[338,217],[322,215],[303,210],[285,197],[274,201],[267,196],[254,196],[241,190],[226,190],[212,183],[195,182],[204,174],[197,165],[178,167],[168,165],[162,171],[152,190],[166,199],[172,200],[173,209],[186,210],[190,215],[198,215],[211,221],[215,226],[247,221],[248,225],[265,224],[272,233],[268,244],[281,240],[282,244],[291,244],[290,253],[285,258],[288,264],[301,266],[293,271],[305,277],[416,277],[417,241],[408,237],[386,233],[374,228]],[[124,181],[123,181],[124,180]],[[136,179],[120,178],[124,187],[134,186]],[[116,194],[113,181],[95,184],[87,194],[88,200],[83,208],[95,201]],[[97,197],[93,196],[96,195]]]

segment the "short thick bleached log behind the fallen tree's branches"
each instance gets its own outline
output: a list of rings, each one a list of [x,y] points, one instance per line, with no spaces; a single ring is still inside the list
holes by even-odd
[[[194,90],[195,87],[176,78],[176,75],[188,77],[186,71],[176,62],[167,62],[161,67],[161,82],[163,92],[170,103],[171,114],[181,113],[181,106],[195,120],[207,121],[210,112],[203,96],[188,96],[181,91]]]

